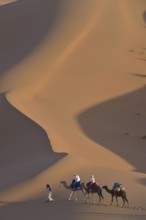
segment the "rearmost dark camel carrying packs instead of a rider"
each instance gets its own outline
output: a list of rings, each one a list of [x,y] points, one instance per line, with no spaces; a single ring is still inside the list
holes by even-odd
[[[112,196],[111,204],[110,205],[112,205],[113,199],[114,199],[114,197],[116,197],[116,202],[117,202],[117,206],[118,206],[118,198],[117,197],[121,197],[122,200],[123,200],[122,207],[124,207],[125,202],[127,202],[127,205],[129,207],[129,203],[128,203],[128,199],[127,199],[126,191],[125,190],[116,191],[114,189],[109,189],[108,186],[103,186],[102,188],[105,189]]]

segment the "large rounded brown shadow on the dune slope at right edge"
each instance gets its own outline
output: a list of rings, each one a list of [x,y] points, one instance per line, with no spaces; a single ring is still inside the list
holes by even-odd
[[[91,140],[146,173],[145,87],[86,109],[77,115],[77,121]]]

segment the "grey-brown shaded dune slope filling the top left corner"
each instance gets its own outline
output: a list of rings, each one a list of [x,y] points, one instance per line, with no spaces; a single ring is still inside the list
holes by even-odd
[[[0,7],[0,75],[20,62],[51,31],[59,0],[19,0]]]

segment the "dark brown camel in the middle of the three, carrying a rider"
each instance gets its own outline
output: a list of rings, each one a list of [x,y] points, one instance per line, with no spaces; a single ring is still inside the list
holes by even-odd
[[[100,204],[100,202],[101,202],[101,199],[104,199],[104,197],[103,197],[103,195],[102,195],[102,189],[101,189],[101,187],[99,186],[99,185],[95,185],[95,188],[93,188],[93,189],[91,189],[91,188],[89,188],[89,185],[88,184],[84,184],[84,183],[82,183],[82,186],[83,186],[83,188],[84,188],[84,190],[85,190],[85,196],[86,195],[88,195],[88,198],[87,198],[87,200],[86,200],[86,202],[88,202],[88,200],[89,200],[89,194],[90,193],[92,193],[92,195],[93,195],[93,200],[94,200],[94,204],[95,204],[95,193],[99,196],[99,202],[98,202],[98,204]]]

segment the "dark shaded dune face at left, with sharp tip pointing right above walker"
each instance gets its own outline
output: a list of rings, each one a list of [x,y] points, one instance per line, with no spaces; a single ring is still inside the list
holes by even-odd
[[[63,156],[52,151],[39,125],[0,95],[0,190],[32,178]]]

